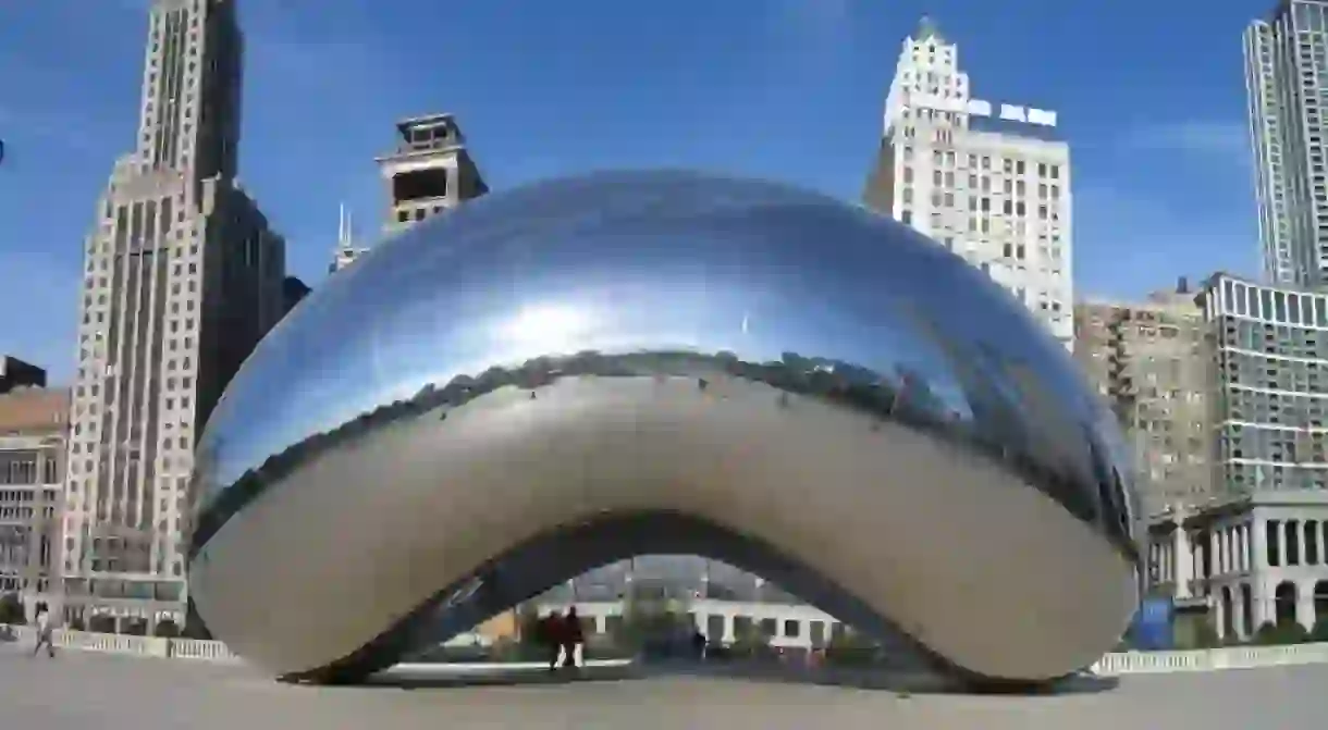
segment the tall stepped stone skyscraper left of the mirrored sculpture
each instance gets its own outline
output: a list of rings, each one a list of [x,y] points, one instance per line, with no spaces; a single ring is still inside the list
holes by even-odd
[[[134,150],[84,252],[66,616],[183,617],[195,439],[283,313],[286,243],[239,186],[234,0],[155,0]]]

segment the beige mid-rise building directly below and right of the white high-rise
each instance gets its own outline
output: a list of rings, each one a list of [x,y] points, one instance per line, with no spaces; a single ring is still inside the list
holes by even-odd
[[[1142,301],[1074,305],[1074,357],[1134,445],[1143,515],[1212,495],[1206,332],[1183,279]]]

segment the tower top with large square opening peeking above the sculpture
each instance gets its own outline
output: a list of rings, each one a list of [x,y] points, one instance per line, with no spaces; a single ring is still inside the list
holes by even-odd
[[[385,235],[489,192],[452,114],[397,122],[397,149],[378,158],[388,182]]]

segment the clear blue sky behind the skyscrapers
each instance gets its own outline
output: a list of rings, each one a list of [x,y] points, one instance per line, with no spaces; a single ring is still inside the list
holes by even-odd
[[[68,378],[81,242],[137,123],[146,0],[0,3],[0,353]],[[453,111],[497,191],[688,166],[857,199],[926,12],[975,94],[1060,111],[1082,295],[1254,273],[1240,32],[1266,1],[242,0],[242,179],[317,285],[376,228],[398,117]]]

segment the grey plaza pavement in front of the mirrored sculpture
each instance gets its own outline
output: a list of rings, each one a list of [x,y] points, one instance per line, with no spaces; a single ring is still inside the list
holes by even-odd
[[[973,727],[1282,730],[1323,726],[1328,666],[1153,674],[1037,697],[900,694],[778,677],[610,666],[463,676],[412,666],[372,685],[278,684],[243,665],[0,645],[0,727],[259,730],[372,727]]]

